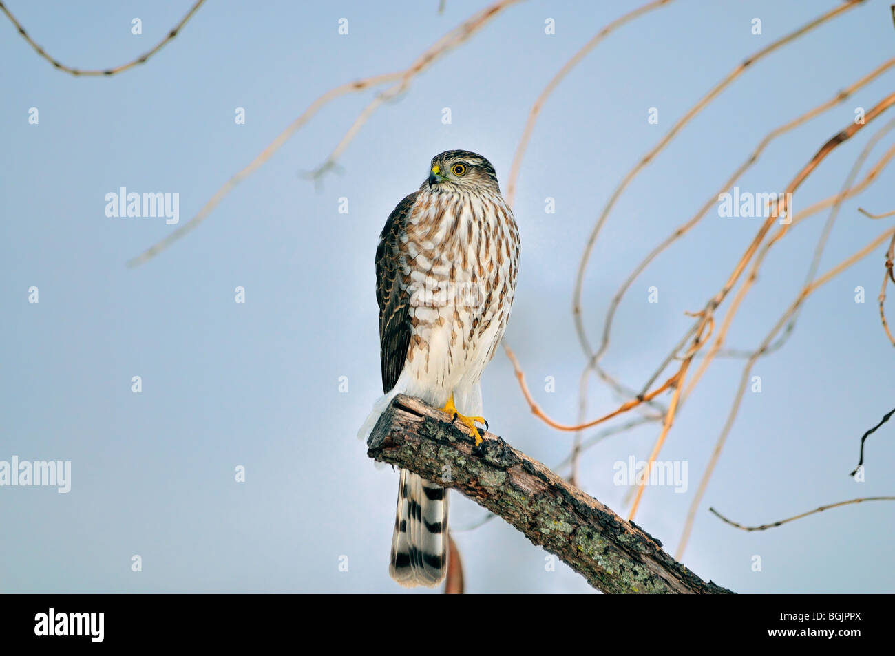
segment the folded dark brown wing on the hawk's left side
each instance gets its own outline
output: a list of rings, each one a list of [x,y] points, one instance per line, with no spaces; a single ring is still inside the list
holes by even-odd
[[[379,358],[382,362],[382,390],[395,387],[410,344],[410,296],[401,289],[400,267],[403,254],[400,235],[404,233],[410,209],[419,192],[397,204],[379,234],[376,249],[376,302],[379,303]]]

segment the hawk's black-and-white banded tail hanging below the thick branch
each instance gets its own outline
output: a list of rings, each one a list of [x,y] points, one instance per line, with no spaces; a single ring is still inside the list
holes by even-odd
[[[405,587],[433,587],[447,574],[447,489],[400,471],[388,574]]]

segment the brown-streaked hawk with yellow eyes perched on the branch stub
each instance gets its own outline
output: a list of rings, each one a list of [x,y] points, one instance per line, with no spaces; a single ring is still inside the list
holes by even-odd
[[[518,261],[519,231],[494,166],[466,150],[432,158],[426,181],[379,235],[385,396],[362,433],[392,397],[406,394],[453,414],[482,442],[480,379],[507,328]],[[437,585],[447,573],[447,544],[447,490],[401,470],[388,573],[405,586]]]

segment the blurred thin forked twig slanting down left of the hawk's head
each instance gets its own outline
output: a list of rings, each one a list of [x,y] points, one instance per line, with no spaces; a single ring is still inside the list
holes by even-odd
[[[338,98],[340,96],[344,96],[347,93],[352,93],[355,91],[361,91],[363,89],[369,89],[371,87],[379,86],[380,84],[385,84],[387,82],[396,82],[401,81],[402,84],[405,84],[406,81],[410,80],[414,75],[426,69],[432,62],[437,60],[441,55],[444,55],[449,49],[452,47],[456,47],[465,39],[471,37],[473,33],[479,28],[481,28],[486,22],[490,21],[497,13],[501,10],[505,9],[510,4],[516,4],[520,2],[520,0],[499,0],[494,4],[490,4],[490,6],[483,9],[481,12],[473,14],[473,17],[464,21],[461,25],[456,27],[454,30],[449,31],[444,37],[439,38],[435,44],[428,48],[422,55],[420,55],[416,61],[413,62],[408,68],[402,71],[383,73],[381,75],[374,75],[371,77],[363,78],[362,80],[346,82],[345,84],[341,84],[334,89],[329,89],[326,93],[324,93],[320,98],[314,100],[310,106],[304,111],[302,115],[296,118],[291,124],[286,127],[286,130],[280,132],[277,135],[277,138],[272,141],[268,147],[260,152],[260,154],[251,160],[248,166],[245,166],[242,171],[233,175],[229,180],[224,183],[224,185],[215,192],[215,195],[211,197],[202,209],[192,217],[189,221],[187,221],[183,226],[179,226],[174,232],[168,234],[164,239],[154,243],[149,247],[146,251],[143,251],[140,255],[128,261],[129,267],[135,267],[147,260],[150,260],[154,256],[158,255],[159,252],[164,251],[168,246],[175,243],[177,240],[182,238],[185,234],[192,232],[196,227],[200,225],[202,221],[204,221],[211,211],[217,207],[217,204],[224,199],[224,197],[233,190],[233,188],[241,183],[245,178],[254,173],[262,164],[268,161],[268,159],[280,149],[286,141],[294,135],[300,128],[303,127],[308,121],[311,120],[311,117],[317,114],[320,111],[320,108],[327,105],[331,100]],[[392,88],[394,89],[394,87]],[[388,94],[388,91],[386,92]],[[340,142],[339,146],[337,146],[337,151],[341,152],[341,149],[344,149],[347,141],[345,141],[348,137],[353,137],[357,130],[360,129],[363,121],[366,120],[366,117],[370,115],[372,108],[378,106],[376,101],[374,100],[370,106],[367,106],[358,117],[358,119],[354,122],[354,125],[349,129],[348,133],[345,135],[345,138]],[[372,108],[371,108],[372,107]],[[334,151],[335,153],[336,151]],[[333,156],[330,155],[327,162],[323,165],[326,167],[332,166],[334,164]],[[320,169],[319,169],[320,171]]]

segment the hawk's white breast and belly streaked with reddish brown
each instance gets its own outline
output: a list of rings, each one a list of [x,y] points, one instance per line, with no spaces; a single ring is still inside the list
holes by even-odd
[[[499,193],[422,191],[400,241],[399,279],[410,298],[405,369],[449,395],[482,376],[507,327],[516,222]]]

